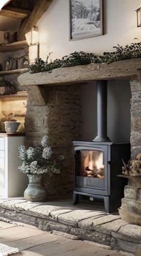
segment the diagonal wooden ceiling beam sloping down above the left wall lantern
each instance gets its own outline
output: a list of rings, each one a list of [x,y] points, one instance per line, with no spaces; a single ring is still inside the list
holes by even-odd
[[[52,2],[53,0],[36,0],[32,13],[23,21],[22,26],[20,27],[20,31],[18,33],[19,40],[24,39],[24,35],[29,32],[34,25],[36,25],[41,16],[48,10]]]

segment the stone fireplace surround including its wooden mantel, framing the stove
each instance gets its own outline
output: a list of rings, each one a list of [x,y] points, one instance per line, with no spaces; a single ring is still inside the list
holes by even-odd
[[[28,91],[26,145],[48,135],[54,157],[63,154],[61,174],[45,176],[48,196],[68,195],[73,184],[72,141],[81,139],[81,84],[96,80],[128,80],[131,87],[131,157],[141,150],[141,58],[107,64],[54,69],[18,77]]]

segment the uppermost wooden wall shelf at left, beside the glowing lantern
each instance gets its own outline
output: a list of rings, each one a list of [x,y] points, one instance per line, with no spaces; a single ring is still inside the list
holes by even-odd
[[[28,48],[28,44],[26,40],[12,42],[11,44],[1,44],[0,52],[7,53],[8,51],[18,51],[18,50],[23,50],[24,48]]]

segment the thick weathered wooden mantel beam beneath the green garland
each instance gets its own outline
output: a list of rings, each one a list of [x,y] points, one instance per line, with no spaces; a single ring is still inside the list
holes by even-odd
[[[60,84],[85,83],[94,80],[130,80],[137,77],[137,69],[141,68],[141,58],[120,60],[106,64],[90,64],[73,66],[68,68],[53,69],[50,72],[30,74],[29,72],[19,76],[22,86],[51,86]]]

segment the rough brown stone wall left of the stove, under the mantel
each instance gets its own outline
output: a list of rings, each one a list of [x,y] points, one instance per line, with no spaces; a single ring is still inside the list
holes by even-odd
[[[73,186],[72,141],[81,139],[81,86],[48,86],[44,98],[47,104],[38,106],[29,97],[25,119],[26,146],[38,145],[48,135],[54,159],[65,156],[60,164],[60,175],[44,176],[49,196],[66,196]]]

